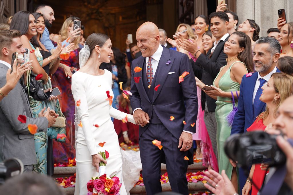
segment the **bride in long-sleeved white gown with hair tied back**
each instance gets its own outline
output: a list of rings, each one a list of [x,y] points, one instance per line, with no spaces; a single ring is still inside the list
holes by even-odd
[[[122,158],[117,134],[110,117],[118,120],[128,117],[135,124],[132,115],[116,110],[109,104],[107,91],[112,92],[112,73],[99,69],[103,62],[109,63],[113,53],[110,38],[105,34],[91,34],[79,53],[80,70],[72,76],[72,94],[76,105],[76,184],[75,195],[88,193],[86,183],[91,177],[98,177],[100,161],[106,162],[98,152],[107,150],[107,176],[116,175],[126,190],[122,178]],[[114,97],[113,97],[114,98]],[[113,100],[113,99],[112,99]],[[80,104],[79,104],[80,103]],[[79,106],[78,106],[79,105]],[[81,125],[82,124],[82,125]],[[104,143],[99,146],[99,143]]]

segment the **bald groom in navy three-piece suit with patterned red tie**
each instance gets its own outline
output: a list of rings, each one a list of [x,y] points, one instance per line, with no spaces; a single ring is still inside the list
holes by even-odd
[[[160,45],[159,29],[154,23],[143,23],[136,39],[142,56],[132,61],[130,102],[134,120],[141,125],[139,150],[144,186],[148,195],[162,191],[161,163],[166,162],[172,191],[187,195],[186,171],[188,163],[193,163],[192,134],[198,108],[193,69],[186,54]],[[138,72],[137,67],[142,70]],[[189,74],[179,83],[185,71]],[[154,139],[161,141],[161,150],[152,144]]]

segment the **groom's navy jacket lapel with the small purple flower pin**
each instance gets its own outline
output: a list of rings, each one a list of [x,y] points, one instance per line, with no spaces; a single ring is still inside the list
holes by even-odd
[[[167,76],[168,76],[169,70],[172,67],[172,64],[173,64],[172,61],[169,65],[166,64],[168,62],[168,60],[171,60],[169,49],[167,49],[166,47],[163,47],[163,53],[160,58],[158,68],[157,68],[156,74],[155,74],[155,77],[156,77],[155,78],[155,87],[157,85],[160,85],[160,87],[158,88],[157,91],[154,91],[153,102],[156,100],[159,93],[161,92],[161,89],[165,83]]]

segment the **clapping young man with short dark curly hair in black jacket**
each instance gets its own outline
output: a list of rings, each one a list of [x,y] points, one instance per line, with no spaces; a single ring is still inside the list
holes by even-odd
[[[188,40],[183,42],[183,48],[190,51],[197,60],[190,60],[193,66],[195,76],[202,80],[206,85],[212,85],[214,79],[220,71],[220,68],[226,65],[226,54],[224,53],[224,44],[229,38],[228,24],[229,18],[226,13],[213,12],[209,15],[211,31],[216,41],[214,47],[207,52],[207,55],[202,54],[197,48],[197,44]],[[205,92],[201,93],[202,108],[205,110],[204,120],[212,142],[214,153],[218,159],[217,151],[217,122],[215,118],[216,100],[207,96]]]

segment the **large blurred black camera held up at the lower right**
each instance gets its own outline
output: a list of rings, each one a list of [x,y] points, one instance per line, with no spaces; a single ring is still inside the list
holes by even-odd
[[[233,134],[226,139],[224,150],[237,166],[248,168],[252,164],[265,163],[270,167],[286,163],[286,156],[277,146],[277,135],[264,131]]]

